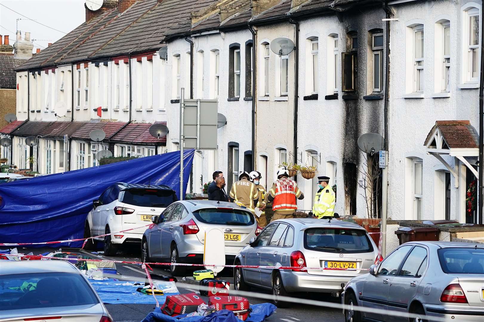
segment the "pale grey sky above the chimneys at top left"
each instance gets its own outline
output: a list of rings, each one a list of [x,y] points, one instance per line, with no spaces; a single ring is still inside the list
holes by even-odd
[[[47,43],[54,43],[65,33],[84,22],[84,2],[85,0],[0,0],[0,34],[9,35],[10,44],[13,45],[16,19],[27,19],[22,15],[63,31],[50,29],[35,21],[19,20],[18,30],[22,31],[22,37],[24,37],[24,32],[30,31],[31,39],[38,39],[33,41],[35,43],[34,51],[35,48],[42,49],[42,47],[47,47]],[[16,14],[6,7],[22,15]]]

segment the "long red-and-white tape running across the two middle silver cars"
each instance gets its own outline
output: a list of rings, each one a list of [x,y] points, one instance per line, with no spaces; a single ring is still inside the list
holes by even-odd
[[[328,267],[305,267],[305,266],[263,266],[263,265],[220,265],[220,264],[188,264],[188,263],[149,263],[149,262],[135,262],[135,261],[115,261],[115,260],[100,260],[89,258],[63,258],[53,256],[42,255],[25,255],[25,254],[8,254],[12,257],[25,257],[27,259],[56,259],[64,261],[78,261],[78,262],[111,262],[111,263],[123,263],[123,264],[136,264],[136,265],[161,265],[161,266],[195,266],[195,267],[228,267],[228,268],[266,268],[266,269],[282,269],[282,270],[329,270],[329,271],[368,271],[369,268],[328,268]]]

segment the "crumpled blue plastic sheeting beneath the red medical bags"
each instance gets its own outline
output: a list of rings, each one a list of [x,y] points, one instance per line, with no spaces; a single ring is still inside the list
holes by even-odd
[[[249,317],[245,322],[262,322],[266,318],[272,315],[277,308],[275,305],[271,303],[262,303],[262,304],[255,304],[250,306],[252,308],[252,313],[250,313]],[[217,312],[213,312],[207,316],[192,316],[192,317],[185,317],[184,315],[180,315],[177,317],[171,317],[161,313],[159,307],[157,307],[153,312],[148,313],[146,318],[144,318],[141,322],[240,322],[234,313],[229,310],[220,310]]]

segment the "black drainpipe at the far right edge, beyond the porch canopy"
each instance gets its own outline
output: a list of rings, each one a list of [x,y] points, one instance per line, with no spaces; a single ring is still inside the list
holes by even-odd
[[[482,1],[481,8],[484,8],[484,0]],[[483,151],[483,138],[484,138],[484,24],[481,23],[481,77],[479,84],[479,196],[477,197],[479,202],[478,210],[478,220],[477,223],[483,222],[483,197],[484,197],[484,185],[483,185],[483,161],[484,161],[484,151]]]

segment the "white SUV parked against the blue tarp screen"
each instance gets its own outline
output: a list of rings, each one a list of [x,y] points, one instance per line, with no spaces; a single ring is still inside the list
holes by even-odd
[[[153,216],[159,216],[177,200],[175,191],[165,185],[117,182],[109,186],[99,199],[92,201],[93,208],[84,226],[84,238],[113,232],[94,239],[104,241],[104,253],[114,256],[123,243],[141,244],[146,227],[125,233],[116,232],[150,224]],[[93,246],[92,240],[89,240],[86,249],[92,249]]]

